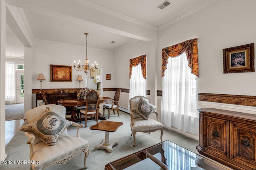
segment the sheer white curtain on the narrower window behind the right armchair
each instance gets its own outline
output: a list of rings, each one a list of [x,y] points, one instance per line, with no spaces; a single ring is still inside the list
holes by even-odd
[[[132,76],[130,78],[129,99],[135,96],[146,96],[146,79],[142,76],[140,64],[132,67]],[[128,109],[130,110],[130,104]]]

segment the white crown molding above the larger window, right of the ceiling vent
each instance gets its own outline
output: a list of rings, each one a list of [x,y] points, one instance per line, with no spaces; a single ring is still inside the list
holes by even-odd
[[[204,2],[201,2],[200,4],[194,6],[193,8],[190,8],[189,10],[179,14],[178,16],[166,21],[165,23],[159,25],[157,27],[157,30],[163,29],[164,27],[167,27],[168,25],[171,25],[179,20],[182,20],[183,18],[186,18],[187,16],[199,11],[200,9],[204,8],[205,6],[208,6],[209,4],[215,2],[216,0],[205,0]]]

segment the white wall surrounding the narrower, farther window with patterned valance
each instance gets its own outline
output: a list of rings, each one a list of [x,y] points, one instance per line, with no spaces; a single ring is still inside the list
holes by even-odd
[[[114,51],[114,61],[115,61],[115,88],[127,88],[130,87],[129,79],[129,69],[130,69],[130,59],[139,57],[146,54],[146,89],[150,90],[150,94],[154,94],[154,60],[155,60],[155,42],[144,42],[135,41],[130,45],[126,45],[121,49]],[[152,93],[151,93],[152,92]],[[154,97],[152,97],[154,98]],[[122,102],[121,102],[122,100]],[[119,106],[128,109],[129,94],[122,93],[120,95]],[[154,104],[154,100],[151,101]]]

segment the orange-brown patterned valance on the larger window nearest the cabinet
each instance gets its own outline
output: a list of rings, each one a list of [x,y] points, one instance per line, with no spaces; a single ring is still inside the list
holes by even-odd
[[[170,47],[162,49],[162,77],[169,57],[177,57],[186,52],[188,59],[188,66],[191,68],[191,73],[198,76],[198,49],[197,38],[184,41]]]

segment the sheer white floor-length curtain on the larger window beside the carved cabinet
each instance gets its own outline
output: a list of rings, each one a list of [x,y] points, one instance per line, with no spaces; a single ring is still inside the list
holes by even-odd
[[[168,59],[162,79],[161,119],[164,125],[198,134],[197,76],[191,74],[186,54]]]

